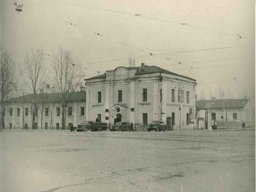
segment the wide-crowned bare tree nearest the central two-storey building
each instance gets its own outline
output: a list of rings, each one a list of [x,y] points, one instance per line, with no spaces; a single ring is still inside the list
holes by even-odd
[[[67,106],[71,101],[74,91],[79,85],[81,75],[78,64],[78,58],[74,58],[69,50],[59,48],[57,54],[53,54],[52,67],[54,70],[57,89],[60,91],[59,103],[61,110],[61,127],[65,129]]]

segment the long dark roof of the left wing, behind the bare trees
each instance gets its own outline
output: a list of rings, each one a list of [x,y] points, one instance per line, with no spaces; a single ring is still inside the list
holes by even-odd
[[[38,97],[47,97],[49,102],[60,102],[61,101],[61,93],[41,93],[37,94]],[[8,99],[7,103],[20,103],[23,101],[24,103],[32,102],[34,99],[34,94],[28,94],[20,97],[15,97],[12,99]],[[72,93],[72,97],[70,102],[85,102],[86,101],[86,92],[78,91]]]

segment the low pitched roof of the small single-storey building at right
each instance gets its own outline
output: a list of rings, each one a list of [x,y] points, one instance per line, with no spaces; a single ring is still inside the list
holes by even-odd
[[[224,108],[242,108],[249,99],[216,99],[216,100],[197,100],[197,109],[224,109]]]

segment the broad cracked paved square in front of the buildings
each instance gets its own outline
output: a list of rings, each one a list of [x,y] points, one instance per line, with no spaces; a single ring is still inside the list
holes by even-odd
[[[0,133],[3,192],[254,192],[255,130]]]

